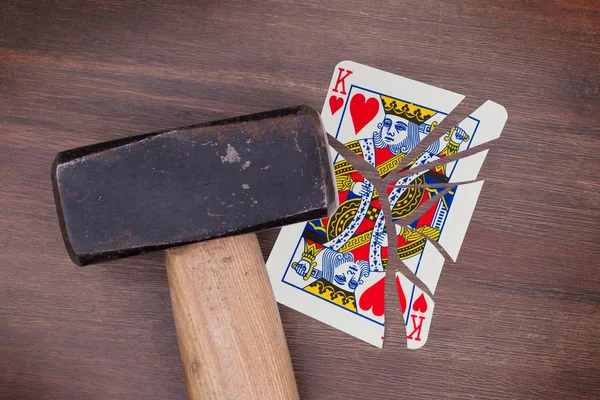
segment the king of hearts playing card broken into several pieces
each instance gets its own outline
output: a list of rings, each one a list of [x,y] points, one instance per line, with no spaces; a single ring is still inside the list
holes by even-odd
[[[329,134],[361,156],[381,177],[392,177],[401,161],[463,98],[343,61],[334,69],[321,118]],[[340,206],[330,218],[281,230],[267,261],[277,300],[381,347],[388,264],[381,201],[389,201],[391,218],[397,224],[395,256],[434,293],[445,259],[433,241],[456,260],[482,186],[482,182],[472,181],[487,151],[413,175],[407,176],[406,170],[496,139],[505,121],[504,108],[486,102],[424,152],[410,154],[407,160],[411,162],[403,176],[392,179],[384,194],[330,149]],[[440,183],[456,185],[445,190]],[[425,204],[429,210],[411,219],[411,214]],[[433,299],[400,272],[396,276],[407,345],[418,348],[427,341]]]

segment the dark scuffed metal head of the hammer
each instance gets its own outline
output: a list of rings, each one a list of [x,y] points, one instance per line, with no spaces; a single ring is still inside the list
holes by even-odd
[[[52,183],[65,245],[86,265],[326,217],[328,149],[300,106],[64,151]]]

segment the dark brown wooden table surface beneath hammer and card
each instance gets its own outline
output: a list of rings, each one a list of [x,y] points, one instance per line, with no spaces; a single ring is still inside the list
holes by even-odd
[[[423,349],[280,306],[301,397],[600,398],[599,53],[587,0],[0,1],[0,398],[186,398],[163,255],[75,267],[57,152],[320,109],[344,59],[509,119]]]

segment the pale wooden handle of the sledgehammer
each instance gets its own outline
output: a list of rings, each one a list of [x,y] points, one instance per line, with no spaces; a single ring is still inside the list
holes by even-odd
[[[190,399],[298,399],[256,235],[191,244],[166,257]]]

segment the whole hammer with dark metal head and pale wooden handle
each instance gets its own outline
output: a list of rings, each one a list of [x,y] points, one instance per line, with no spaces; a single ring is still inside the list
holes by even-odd
[[[315,110],[285,108],[67,150],[54,161],[52,183],[75,264],[167,249],[191,399],[298,398],[252,232],[337,208]]]

